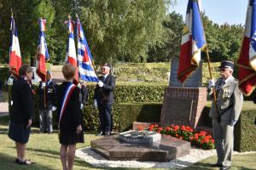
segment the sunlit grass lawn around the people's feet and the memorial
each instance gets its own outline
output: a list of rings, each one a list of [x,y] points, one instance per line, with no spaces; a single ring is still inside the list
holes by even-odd
[[[59,157],[60,144],[58,142],[57,132],[49,134],[39,134],[38,128],[32,128],[32,134],[27,144],[26,157],[32,159],[35,163],[30,166],[20,166],[14,163],[15,161],[15,143],[8,138],[8,122],[9,116],[0,117],[0,169],[1,170],[52,170],[61,169],[61,161]],[[96,139],[95,133],[85,134],[85,143],[78,144],[78,148],[83,148],[90,145],[91,139]],[[195,163],[192,167],[187,167],[185,170],[197,169],[218,169],[209,167],[209,163],[216,161],[216,157],[210,157],[206,160]],[[236,155],[234,156],[234,167],[232,169],[256,169],[256,154]],[[92,170],[92,169],[136,169],[136,168],[100,168],[93,167],[89,163],[76,158],[74,161],[74,170]],[[157,168],[150,168],[157,169]],[[160,168],[158,168],[160,169]]]

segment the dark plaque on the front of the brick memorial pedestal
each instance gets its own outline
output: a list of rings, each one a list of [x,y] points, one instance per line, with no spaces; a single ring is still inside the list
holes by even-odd
[[[175,122],[190,122],[192,112],[192,99],[167,99],[168,105],[165,114],[161,116],[161,124],[172,124]],[[183,123],[181,123],[183,124]]]

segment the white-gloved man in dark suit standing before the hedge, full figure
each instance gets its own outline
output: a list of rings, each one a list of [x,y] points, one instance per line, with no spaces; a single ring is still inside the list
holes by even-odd
[[[110,65],[108,63],[102,65],[102,77],[99,77],[99,82],[95,89],[95,106],[99,110],[100,117],[100,133],[97,135],[109,136],[112,131],[112,105],[113,91],[115,88],[115,78],[110,73]]]

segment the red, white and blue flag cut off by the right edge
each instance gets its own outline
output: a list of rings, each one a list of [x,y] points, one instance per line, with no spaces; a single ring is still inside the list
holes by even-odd
[[[241,53],[237,60],[239,88],[245,95],[256,87],[256,0],[249,0]]]

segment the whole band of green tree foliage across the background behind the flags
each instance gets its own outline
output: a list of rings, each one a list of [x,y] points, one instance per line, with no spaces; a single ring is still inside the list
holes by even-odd
[[[66,56],[67,14],[79,15],[96,64],[116,61],[167,61],[178,57],[183,19],[168,14],[175,0],[0,0],[0,60],[8,63],[10,14],[14,12],[23,61],[37,53],[38,19],[47,20],[46,40],[51,63]],[[241,25],[218,25],[203,14],[212,61],[236,60],[241,47]],[[204,57],[203,57],[204,59]]]

